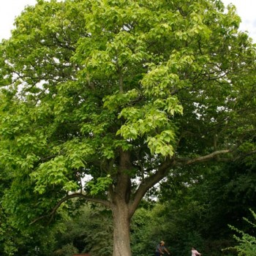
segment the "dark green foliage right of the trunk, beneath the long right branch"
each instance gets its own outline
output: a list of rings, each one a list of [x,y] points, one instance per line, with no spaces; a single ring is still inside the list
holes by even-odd
[[[161,183],[161,203],[150,211],[138,210],[143,219],[138,230],[132,225],[132,252],[149,255],[165,240],[174,255],[191,255],[192,246],[206,256],[236,255],[222,249],[234,246],[227,224],[252,234],[242,222],[249,208],[255,211],[255,165],[249,162],[216,162],[172,173]],[[137,218],[135,214],[135,222]]]

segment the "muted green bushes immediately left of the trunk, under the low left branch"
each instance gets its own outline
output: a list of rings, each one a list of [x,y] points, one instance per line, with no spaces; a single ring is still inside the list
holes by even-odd
[[[83,206],[65,222],[65,232],[56,233],[58,241],[52,255],[64,256],[66,246],[76,253],[90,252],[91,255],[111,255],[113,246],[113,222],[109,211],[97,206]]]

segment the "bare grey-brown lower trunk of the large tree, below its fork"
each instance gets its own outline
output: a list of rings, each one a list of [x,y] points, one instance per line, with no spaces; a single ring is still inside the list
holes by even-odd
[[[129,209],[124,200],[117,200],[113,211],[113,256],[131,256]]]

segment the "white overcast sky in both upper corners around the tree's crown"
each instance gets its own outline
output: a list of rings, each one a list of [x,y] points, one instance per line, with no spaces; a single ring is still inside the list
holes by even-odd
[[[0,40],[10,37],[12,24],[16,16],[26,5],[36,4],[36,0],[0,0]],[[256,0],[222,0],[237,7],[238,15],[242,19],[241,29],[249,32],[249,36],[256,42]]]

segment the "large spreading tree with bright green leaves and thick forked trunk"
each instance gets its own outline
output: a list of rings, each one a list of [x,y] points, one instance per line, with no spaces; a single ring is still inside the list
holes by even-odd
[[[80,197],[112,210],[113,256],[129,256],[148,189],[176,167],[253,151],[255,48],[239,23],[217,0],[26,7],[0,57],[13,223]]]

